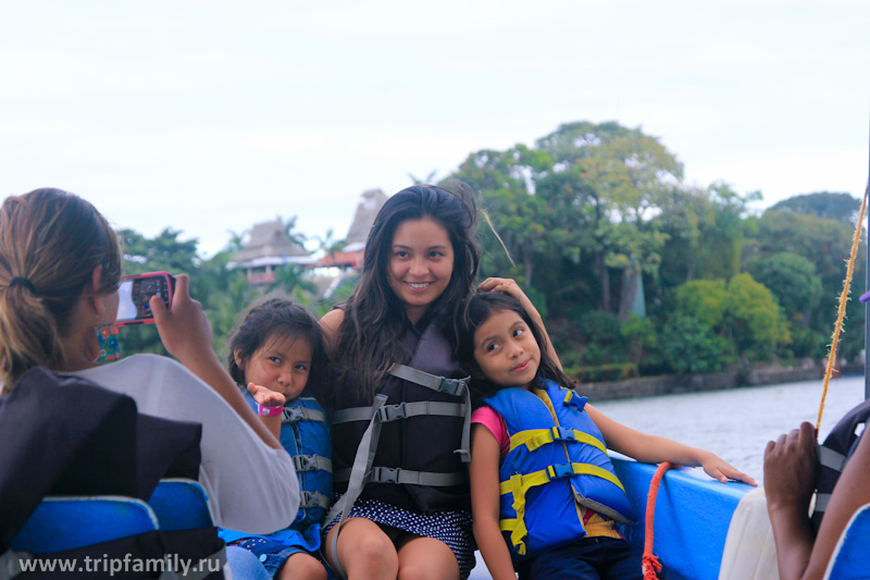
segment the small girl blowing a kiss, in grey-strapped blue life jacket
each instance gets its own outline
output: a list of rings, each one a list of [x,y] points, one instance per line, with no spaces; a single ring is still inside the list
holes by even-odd
[[[332,494],[330,423],[314,398],[326,381],[320,324],[286,298],[266,298],[250,308],[226,350],[229,374],[293,457],[301,499],[296,519],[282,530],[266,535],[222,530],[221,538],[257,556],[271,578],[326,580],[326,569],[312,555]]]

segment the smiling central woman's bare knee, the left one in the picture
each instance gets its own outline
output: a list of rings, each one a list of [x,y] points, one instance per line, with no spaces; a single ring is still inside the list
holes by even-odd
[[[332,541],[337,532],[338,526],[335,526],[324,540],[324,552],[331,564],[335,562]],[[399,573],[399,557],[393,540],[377,523],[365,518],[345,520],[336,551],[350,580],[395,580]]]

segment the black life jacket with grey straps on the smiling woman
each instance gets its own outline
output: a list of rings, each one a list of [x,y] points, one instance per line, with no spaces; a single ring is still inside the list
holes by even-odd
[[[468,460],[463,435],[467,440],[467,417],[471,414],[467,374],[452,356],[437,318],[422,333],[409,326],[402,341],[412,356],[407,366],[394,366],[377,392],[378,397],[385,397],[377,399],[383,403],[376,411],[381,433],[371,479],[360,497],[415,513],[469,509],[463,464]],[[432,377],[415,377],[414,369]],[[443,378],[451,380],[439,382]],[[430,385],[418,384],[418,380]],[[360,396],[352,384],[339,386],[334,404],[334,488],[344,493],[360,441],[375,411],[372,402]],[[457,453],[460,451],[465,453]]]

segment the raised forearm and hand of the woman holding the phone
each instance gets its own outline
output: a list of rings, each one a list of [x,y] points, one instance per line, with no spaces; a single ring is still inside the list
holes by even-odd
[[[211,323],[202,310],[202,305],[190,298],[188,285],[186,275],[176,277],[172,311],[166,310],[160,297],[151,297],[149,305],[154,313],[154,322],[163,346],[190,372],[221,395],[263,443],[273,449],[281,449],[281,443],[263,423],[257,420],[257,416],[245,403],[245,397],[236,388],[236,383],[214,354],[211,347]]]

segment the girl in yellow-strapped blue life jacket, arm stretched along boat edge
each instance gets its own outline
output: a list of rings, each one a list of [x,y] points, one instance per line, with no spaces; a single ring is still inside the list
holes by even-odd
[[[643,578],[641,555],[617,530],[631,507],[608,447],[755,484],[710,452],[634,431],[587,405],[517,284],[489,279],[478,289],[459,320],[459,357],[477,406],[474,538],[495,580],[515,578],[514,566],[520,579]]]

